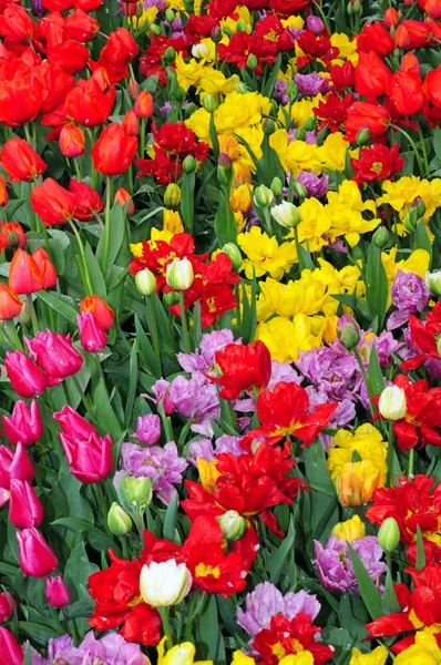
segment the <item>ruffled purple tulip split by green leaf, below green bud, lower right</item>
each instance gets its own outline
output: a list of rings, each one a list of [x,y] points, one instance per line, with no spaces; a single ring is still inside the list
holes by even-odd
[[[331,535],[326,546],[319,541],[314,541],[316,560],[314,564],[318,570],[320,583],[328,591],[345,593],[350,590],[360,595],[356,573],[349,554],[348,543]],[[383,551],[375,535],[359,538],[351,542],[370,579],[382,591],[380,577],[386,573],[387,565],[381,561]]]

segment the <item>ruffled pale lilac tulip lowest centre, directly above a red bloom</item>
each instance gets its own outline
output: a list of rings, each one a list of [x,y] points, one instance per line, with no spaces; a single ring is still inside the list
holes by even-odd
[[[315,595],[309,595],[305,590],[298,593],[289,592],[285,596],[270,582],[257,584],[245,600],[245,611],[237,608],[237,623],[252,637],[267,628],[273,616],[283,614],[291,621],[300,612],[307,614],[311,622],[320,612],[320,603]]]

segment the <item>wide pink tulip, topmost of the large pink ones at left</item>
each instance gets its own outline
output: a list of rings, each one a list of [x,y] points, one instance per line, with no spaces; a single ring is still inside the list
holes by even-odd
[[[24,337],[32,359],[55,379],[65,379],[80,371],[83,365],[81,354],[72,346],[70,334],[38,332],[33,339]]]

